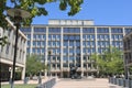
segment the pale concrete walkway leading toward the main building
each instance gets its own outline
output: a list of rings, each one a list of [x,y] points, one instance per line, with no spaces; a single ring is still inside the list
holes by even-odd
[[[53,88],[121,88],[109,84],[108,79],[59,79]]]

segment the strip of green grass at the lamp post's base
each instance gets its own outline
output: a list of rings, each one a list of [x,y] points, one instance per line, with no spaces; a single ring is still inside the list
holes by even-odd
[[[14,85],[14,88],[35,88],[37,85]],[[11,85],[1,85],[1,88],[11,88]]]

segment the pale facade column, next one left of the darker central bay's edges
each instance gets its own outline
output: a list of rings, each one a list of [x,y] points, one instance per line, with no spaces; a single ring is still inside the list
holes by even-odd
[[[46,43],[46,47],[45,47],[45,66],[47,66],[47,53],[48,53],[48,26],[46,26],[46,40],[45,40],[45,43]],[[47,77],[47,69],[45,69],[45,74],[44,74],[45,77]]]

